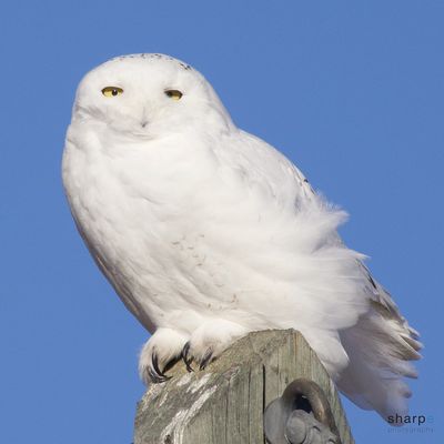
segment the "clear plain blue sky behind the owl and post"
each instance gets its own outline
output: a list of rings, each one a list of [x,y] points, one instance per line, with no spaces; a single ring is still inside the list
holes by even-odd
[[[147,332],[75,232],[60,160],[81,77],[163,52],[351,213],[345,241],[422,332],[411,410],[433,432],[345,402],[356,442],[443,443],[443,23],[432,0],[3,2],[0,442],[132,441]]]

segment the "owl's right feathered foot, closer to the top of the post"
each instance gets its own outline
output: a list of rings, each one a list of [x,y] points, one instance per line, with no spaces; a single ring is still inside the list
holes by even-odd
[[[205,370],[225,349],[249,331],[233,322],[213,320],[198,327],[182,351],[186,370],[192,372],[191,363],[195,361],[199,370]]]

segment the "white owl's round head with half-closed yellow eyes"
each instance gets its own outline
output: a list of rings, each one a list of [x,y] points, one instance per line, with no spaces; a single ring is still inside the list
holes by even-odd
[[[161,54],[117,58],[89,72],[77,92],[73,121],[148,139],[231,122],[203,75]]]

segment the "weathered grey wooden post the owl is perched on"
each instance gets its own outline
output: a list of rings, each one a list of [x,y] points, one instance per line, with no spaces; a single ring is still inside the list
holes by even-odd
[[[293,330],[251,333],[204,371],[188,373],[179,362],[169,374],[138,405],[134,444],[264,444],[265,407],[296,379],[324,393],[336,443],[354,442],[333,382]]]

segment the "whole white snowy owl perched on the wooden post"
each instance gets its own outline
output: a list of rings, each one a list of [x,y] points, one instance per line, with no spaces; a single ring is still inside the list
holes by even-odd
[[[152,334],[145,383],[178,359],[204,369],[249,332],[295,329],[359,406],[406,412],[418,334],[342,243],[346,214],[236,128],[189,64],[134,54],[89,72],[62,175],[91,255]]]

